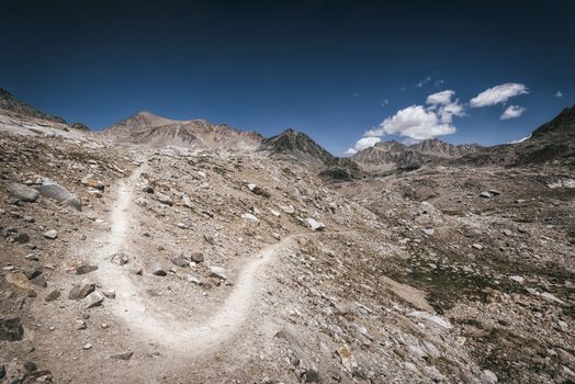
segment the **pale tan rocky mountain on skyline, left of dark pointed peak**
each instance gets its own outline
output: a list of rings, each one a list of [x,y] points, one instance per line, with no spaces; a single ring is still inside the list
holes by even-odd
[[[192,149],[225,147],[253,150],[262,139],[257,133],[237,131],[225,124],[211,124],[204,120],[176,121],[149,112],[139,112],[112,125],[100,135],[111,143]]]

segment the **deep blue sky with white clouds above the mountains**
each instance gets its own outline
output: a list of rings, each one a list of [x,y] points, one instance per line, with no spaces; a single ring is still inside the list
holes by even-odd
[[[343,156],[495,145],[575,102],[573,1],[0,0],[0,88],[103,129],[139,111]]]

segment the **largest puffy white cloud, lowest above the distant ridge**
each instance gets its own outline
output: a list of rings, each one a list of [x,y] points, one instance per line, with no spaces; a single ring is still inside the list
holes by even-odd
[[[422,105],[411,105],[385,118],[376,128],[365,132],[367,137],[398,135],[416,140],[455,133],[455,127],[443,123],[436,112]]]

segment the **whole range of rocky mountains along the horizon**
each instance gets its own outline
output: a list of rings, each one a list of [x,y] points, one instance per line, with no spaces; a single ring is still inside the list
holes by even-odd
[[[18,101],[3,89],[0,89],[0,110],[3,113],[67,124],[71,128],[88,131],[83,124],[68,124],[61,117]],[[361,178],[365,172],[410,170],[424,165],[444,162],[514,166],[554,161],[571,165],[575,157],[572,139],[574,133],[575,105],[564,109],[551,122],[533,131],[529,139],[519,144],[483,147],[476,144],[452,145],[437,138],[414,145],[387,140],[363,149],[350,158],[338,158],[305,133],[291,128],[264,138],[256,132],[243,132],[226,124],[212,124],[205,120],[178,121],[150,112],[139,112],[95,135],[109,143],[149,147],[264,151],[275,158],[319,168],[320,174],[326,178],[348,180]]]

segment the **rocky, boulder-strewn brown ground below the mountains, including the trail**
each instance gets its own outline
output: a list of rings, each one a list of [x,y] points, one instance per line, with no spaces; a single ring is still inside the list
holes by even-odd
[[[575,176],[329,183],[0,133],[0,382],[568,383]]]

